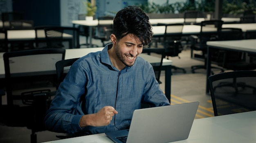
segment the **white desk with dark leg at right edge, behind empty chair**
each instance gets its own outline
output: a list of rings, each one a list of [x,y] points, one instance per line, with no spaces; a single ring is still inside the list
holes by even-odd
[[[232,40],[232,41],[208,41],[207,50],[207,76],[206,93],[209,93],[208,77],[211,74],[211,49],[232,50],[256,54],[256,39]]]

